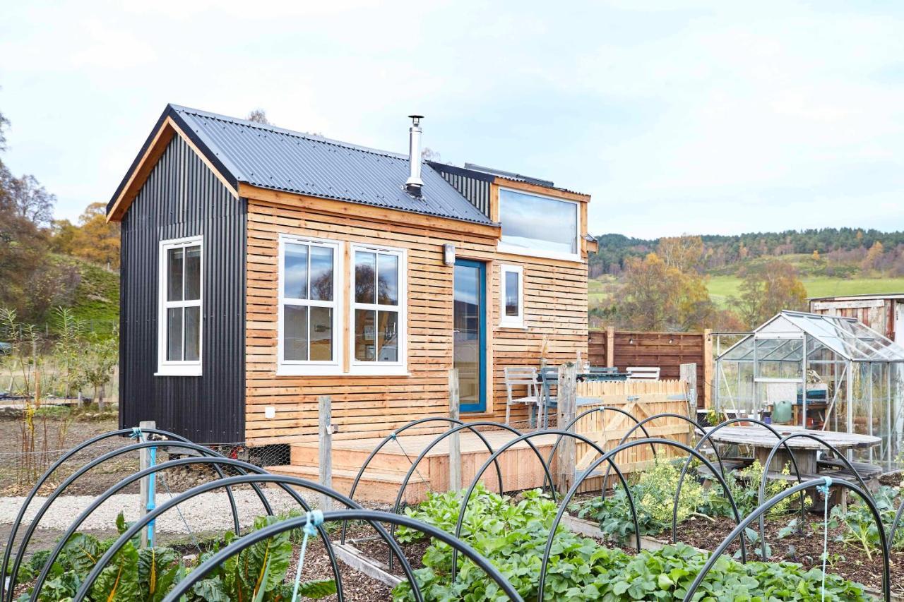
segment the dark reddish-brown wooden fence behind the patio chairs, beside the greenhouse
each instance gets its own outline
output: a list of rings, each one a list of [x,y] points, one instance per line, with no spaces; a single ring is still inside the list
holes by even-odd
[[[678,379],[681,364],[697,364],[697,406],[707,407],[710,399],[707,383],[712,380],[712,341],[710,331],[702,333],[641,333],[593,331],[589,333],[589,361],[594,366],[654,366],[660,378]]]

